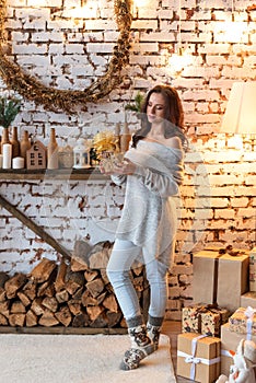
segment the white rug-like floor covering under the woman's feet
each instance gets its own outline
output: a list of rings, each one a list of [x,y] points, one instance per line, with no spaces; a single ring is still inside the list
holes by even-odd
[[[119,370],[126,335],[0,335],[1,383],[176,383],[170,339],[139,369]]]

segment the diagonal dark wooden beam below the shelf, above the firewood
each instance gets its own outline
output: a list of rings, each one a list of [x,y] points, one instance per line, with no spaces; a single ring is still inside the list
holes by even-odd
[[[62,247],[51,235],[49,235],[43,228],[38,227],[35,222],[33,222],[28,217],[26,217],[23,212],[21,212],[15,206],[9,202],[4,197],[0,195],[0,205],[8,210],[13,217],[19,219],[23,224],[25,224],[28,229],[34,231],[36,235],[42,237],[48,245],[54,247],[59,254],[61,254],[65,258],[71,259],[71,253]]]

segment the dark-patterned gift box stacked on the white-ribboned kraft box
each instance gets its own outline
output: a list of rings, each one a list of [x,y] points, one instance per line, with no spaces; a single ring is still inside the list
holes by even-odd
[[[182,332],[220,336],[220,327],[226,323],[230,313],[213,304],[193,304],[183,309]]]

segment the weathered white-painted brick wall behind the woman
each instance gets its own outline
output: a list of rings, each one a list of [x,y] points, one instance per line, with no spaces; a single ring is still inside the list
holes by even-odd
[[[98,8],[93,2],[83,18],[74,20],[69,12],[77,3],[37,0],[35,5],[30,0],[8,0],[5,28],[13,59],[46,84],[61,89],[84,89],[102,76],[118,38],[112,3],[104,0]],[[55,9],[59,11],[53,13]],[[228,38],[224,32],[231,19],[226,2],[183,1],[182,43],[193,53],[193,62],[175,72],[167,62],[177,48],[178,1],[144,1],[143,7],[132,10],[130,62],[124,68],[128,89],[119,86],[75,115],[51,113],[24,101],[15,120],[20,134],[27,129],[45,144],[50,127],[56,128],[60,146],[74,144],[80,136],[124,123],[125,104],[138,90],[146,92],[159,82],[177,88],[191,149],[186,154],[181,189],[182,218],[176,264],[170,277],[168,318],[179,318],[182,305],[191,299],[191,251],[206,245],[251,247],[255,241],[255,149],[247,138],[241,150],[218,134],[232,83],[256,78],[254,1],[236,1],[234,13],[246,26],[238,39]],[[0,86],[4,90],[2,82]],[[128,120],[132,130],[138,127],[132,114]],[[80,181],[67,186],[60,181],[1,181],[0,186],[7,199],[69,249],[77,239],[92,243],[114,239],[124,194],[109,182]],[[50,246],[3,208],[0,230],[1,270],[26,271],[43,256],[56,257]]]

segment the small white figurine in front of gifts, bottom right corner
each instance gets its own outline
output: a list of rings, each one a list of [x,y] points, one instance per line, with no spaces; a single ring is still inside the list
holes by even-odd
[[[216,383],[255,383],[256,344],[242,339],[233,355],[234,364],[230,368],[230,376],[220,375]]]

